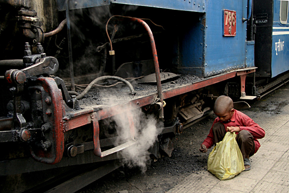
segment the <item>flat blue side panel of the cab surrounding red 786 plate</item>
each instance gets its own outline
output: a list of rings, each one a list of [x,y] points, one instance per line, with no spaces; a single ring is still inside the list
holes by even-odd
[[[206,1],[205,75],[254,66],[254,41],[247,41],[247,0]],[[236,11],[236,36],[224,36],[227,14]]]

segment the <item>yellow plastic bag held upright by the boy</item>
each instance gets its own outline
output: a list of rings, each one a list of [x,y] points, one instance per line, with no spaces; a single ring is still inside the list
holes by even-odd
[[[220,180],[230,180],[240,174],[244,160],[236,141],[236,133],[227,132],[223,141],[216,144],[208,158],[208,171]]]

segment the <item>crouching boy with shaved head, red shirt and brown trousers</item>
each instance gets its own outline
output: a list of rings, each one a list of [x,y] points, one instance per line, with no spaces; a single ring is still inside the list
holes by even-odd
[[[234,109],[233,100],[227,96],[220,96],[214,104],[214,113],[218,116],[210,129],[200,151],[207,152],[216,143],[223,140],[226,132],[236,132],[236,141],[242,152],[245,171],[251,169],[249,157],[260,148],[257,139],[265,136],[265,131],[246,114]]]

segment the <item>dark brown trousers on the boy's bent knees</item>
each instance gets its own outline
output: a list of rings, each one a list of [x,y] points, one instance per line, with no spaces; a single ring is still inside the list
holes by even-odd
[[[213,135],[214,135],[214,144],[223,140],[226,134],[225,126],[221,122],[217,122],[213,125]],[[253,135],[247,131],[242,130],[236,136],[236,141],[239,145],[239,148],[242,152],[243,158],[248,158],[253,156],[255,153],[255,142]]]

